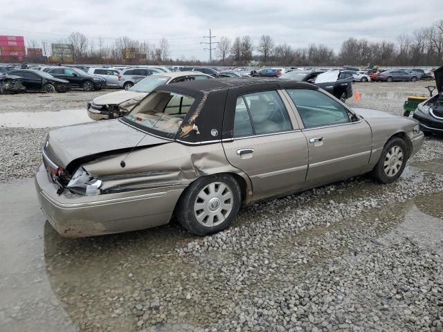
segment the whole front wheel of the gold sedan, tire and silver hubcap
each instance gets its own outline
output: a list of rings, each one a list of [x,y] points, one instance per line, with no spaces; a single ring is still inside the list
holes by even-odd
[[[392,183],[403,173],[408,160],[406,142],[399,137],[391,138],[383,147],[379,162],[372,176],[380,183]]]

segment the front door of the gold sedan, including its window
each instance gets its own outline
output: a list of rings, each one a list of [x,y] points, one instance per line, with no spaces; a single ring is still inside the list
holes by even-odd
[[[361,174],[368,169],[372,131],[365,120],[323,92],[288,89],[303,122],[309,148],[307,187]]]

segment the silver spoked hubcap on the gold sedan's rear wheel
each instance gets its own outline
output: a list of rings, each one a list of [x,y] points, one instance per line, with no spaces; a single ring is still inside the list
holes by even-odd
[[[233,210],[233,192],[221,182],[213,182],[200,190],[194,203],[197,221],[206,227],[219,225]]]

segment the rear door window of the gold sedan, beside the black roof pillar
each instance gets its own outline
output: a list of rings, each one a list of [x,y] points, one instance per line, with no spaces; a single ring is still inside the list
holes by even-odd
[[[237,99],[234,137],[277,133],[291,129],[291,120],[277,91],[248,93]]]

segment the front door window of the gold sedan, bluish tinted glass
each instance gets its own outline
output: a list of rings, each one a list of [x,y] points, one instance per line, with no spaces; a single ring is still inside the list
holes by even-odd
[[[322,127],[350,122],[350,115],[342,104],[325,93],[307,89],[288,89],[305,128]]]

